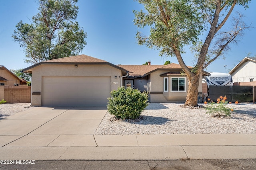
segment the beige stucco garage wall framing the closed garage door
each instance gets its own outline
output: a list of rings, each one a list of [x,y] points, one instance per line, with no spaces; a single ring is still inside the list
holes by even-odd
[[[32,93],[42,93],[42,77],[44,76],[111,76],[111,90],[117,89],[120,86],[121,70],[107,64],[42,64],[32,68]],[[115,78],[115,76],[117,78]],[[68,81],[68,79],[67,79]],[[42,94],[32,95],[31,104],[33,106],[41,106]]]

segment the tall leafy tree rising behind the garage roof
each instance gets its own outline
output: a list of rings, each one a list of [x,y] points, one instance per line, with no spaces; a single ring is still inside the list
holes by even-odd
[[[75,21],[78,14],[78,0],[38,0],[38,14],[32,23],[16,25],[12,34],[26,54],[26,63],[78,55],[87,35]]]

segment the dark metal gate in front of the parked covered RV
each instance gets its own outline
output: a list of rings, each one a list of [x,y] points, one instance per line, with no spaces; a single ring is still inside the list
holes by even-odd
[[[208,86],[208,96],[216,102],[220,96],[226,96],[228,102],[255,102],[254,86]]]

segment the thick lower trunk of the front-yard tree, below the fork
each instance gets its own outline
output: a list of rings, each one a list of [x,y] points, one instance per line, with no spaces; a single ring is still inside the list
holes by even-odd
[[[193,74],[188,77],[188,94],[185,102],[185,106],[198,106],[198,86],[199,86],[200,74]]]

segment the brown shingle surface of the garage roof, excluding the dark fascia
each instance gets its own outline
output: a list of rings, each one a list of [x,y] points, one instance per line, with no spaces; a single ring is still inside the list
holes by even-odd
[[[60,59],[44,61],[47,63],[107,63],[105,60],[96,59],[88,55],[76,55],[71,57],[64,57]]]

